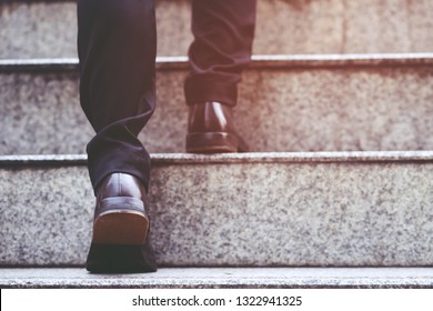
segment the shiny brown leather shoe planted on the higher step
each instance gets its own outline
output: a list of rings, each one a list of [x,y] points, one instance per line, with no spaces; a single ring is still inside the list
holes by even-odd
[[[246,151],[246,143],[234,128],[231,107],[214,101],[189,107],[187,152]]]

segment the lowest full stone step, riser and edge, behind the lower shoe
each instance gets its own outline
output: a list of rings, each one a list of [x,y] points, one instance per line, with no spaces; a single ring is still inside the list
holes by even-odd
[[[152,154],[161,267],[433,262],[433,151]],[[82,265],[84,156],[0,157],[0,265]]]

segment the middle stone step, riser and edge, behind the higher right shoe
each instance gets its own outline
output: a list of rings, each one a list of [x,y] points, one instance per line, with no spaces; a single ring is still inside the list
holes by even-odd
[[[140,139],[183,152],[185,58],[159,58]],[[0,154],[84,153],[77,59],[0,60]],[[433,149],[433,54],[256,56],[235,117],[253,152]],[[161,130],[163,129],[163,130]]]

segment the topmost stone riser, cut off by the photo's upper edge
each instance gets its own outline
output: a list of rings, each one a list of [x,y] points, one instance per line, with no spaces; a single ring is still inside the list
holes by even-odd
[[[184,56],[190,1],[158,0],[160,56]],[[75,1],[0,3],[0,58],[77,56]],[[395,53],[433,49],[431,0],[261,0],[254,53]]]

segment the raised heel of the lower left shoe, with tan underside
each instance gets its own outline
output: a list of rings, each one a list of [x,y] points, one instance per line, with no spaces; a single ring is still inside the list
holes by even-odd
[[[145,242],[149,218],[141,200],[135,198],[108,198],[93,222],[93,243],[140,245]]]

